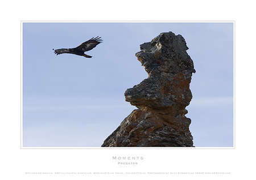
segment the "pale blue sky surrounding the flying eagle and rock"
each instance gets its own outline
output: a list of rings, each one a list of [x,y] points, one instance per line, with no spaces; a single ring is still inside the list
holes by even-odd
[[[233,147],[233,23],[23,23],[23,147],[100,147],[135,106],[123,93],[147,73],[139,45],[185,38],[196,73],[187,106],[196,147]],[[55,55],[92,37],[92,58]]]

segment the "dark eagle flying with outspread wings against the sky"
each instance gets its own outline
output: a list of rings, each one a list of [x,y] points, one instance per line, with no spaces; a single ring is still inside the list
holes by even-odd
[[[84,52],[88,52],[88,50],[92,50],[95,48],[98,44],[102,42],[101,37],[93,37],[88,41],[82,42],[79,46],[76,48],[69,48],[69,49],[52,49],[54,50],[54,53],[56,55],[63,54],[63,53],[69,53],[69,54],[76,54],[76,55],[81,55],[86,58],[92,58],[92,56],[84,54]]]

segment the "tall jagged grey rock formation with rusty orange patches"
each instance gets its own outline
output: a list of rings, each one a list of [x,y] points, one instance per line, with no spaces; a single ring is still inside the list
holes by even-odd
[[[136,106],[102,147],[193,147],[185,117],[192,99],[189,89],[193,61],[184,38],[160,33],[141,45],[136,57],[148,78],[125,92],[125,100]]]

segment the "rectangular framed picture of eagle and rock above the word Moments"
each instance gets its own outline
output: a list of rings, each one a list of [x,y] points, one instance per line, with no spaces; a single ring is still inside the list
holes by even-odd
[[[234,148],[234,22],[21,22],[22,148]]]

